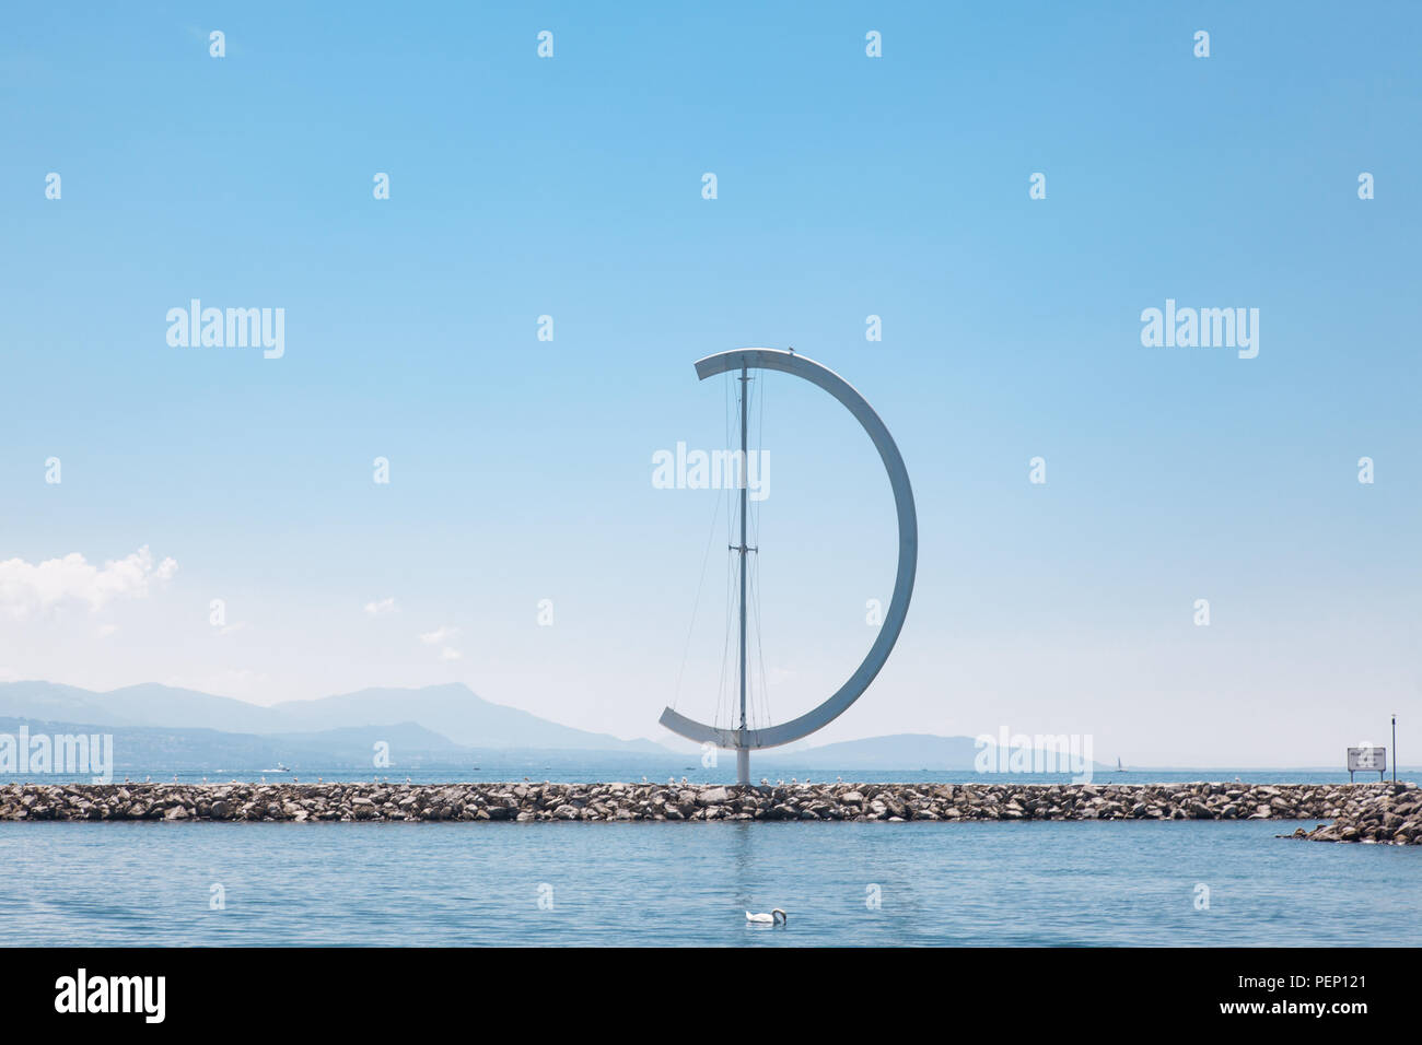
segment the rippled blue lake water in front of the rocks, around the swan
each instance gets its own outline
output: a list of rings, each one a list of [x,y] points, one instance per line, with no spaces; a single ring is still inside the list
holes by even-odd
[[[0,921],[38,945],[1422,943],[1422,847],[1294,826],[0,823]],[[747,926],[772,907],[786,927]]]

